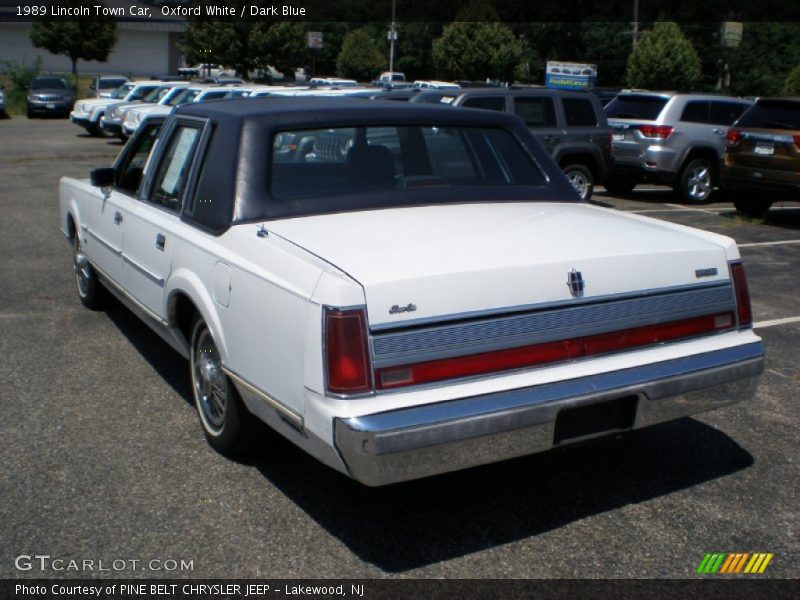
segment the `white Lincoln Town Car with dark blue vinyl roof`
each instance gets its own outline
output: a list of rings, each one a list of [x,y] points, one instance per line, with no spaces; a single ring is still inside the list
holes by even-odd
[[[381,485],[753,394],[735,242],[580,201],[516,117],[291,97],[162,120],[62,178],[61,227],[81,302],[110,291],[188,358],[221,452],[260,419]]]

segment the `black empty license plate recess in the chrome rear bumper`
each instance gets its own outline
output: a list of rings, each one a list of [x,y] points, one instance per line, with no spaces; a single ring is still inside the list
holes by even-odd
[[[556,417],[553,444],[580,442],[633,429],[636,396],[566,408]]]

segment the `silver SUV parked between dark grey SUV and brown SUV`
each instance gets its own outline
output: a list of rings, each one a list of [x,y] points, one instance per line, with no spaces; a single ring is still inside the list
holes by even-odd
[[[620,92],[605,107],[614,155],[606,189],[626,194],[650,181],[671,185],[686,202],[706,201],[718,181],[725,134],[751,105],[709,94]]]

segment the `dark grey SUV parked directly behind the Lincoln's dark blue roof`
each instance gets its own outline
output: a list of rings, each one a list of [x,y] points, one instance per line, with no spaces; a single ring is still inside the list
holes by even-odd
[[[611,129],[593,94],[543,87],[423,90],[413,103],[483,108],[518,115],[561,166],[583,200],[614,163]]]

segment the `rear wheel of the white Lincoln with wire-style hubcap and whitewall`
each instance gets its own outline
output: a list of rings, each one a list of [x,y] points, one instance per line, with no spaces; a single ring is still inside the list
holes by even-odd
[[[222,371],[214,338],[200,316],[195,317],[191,340],[192,393],[206,439],[221,454],[241,454],[252,441],[254,417]]]

